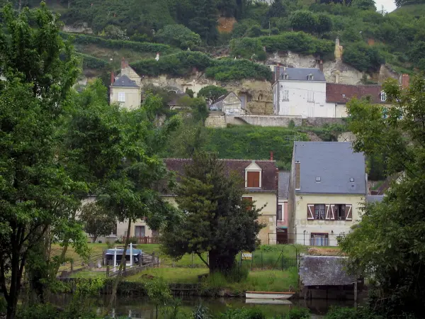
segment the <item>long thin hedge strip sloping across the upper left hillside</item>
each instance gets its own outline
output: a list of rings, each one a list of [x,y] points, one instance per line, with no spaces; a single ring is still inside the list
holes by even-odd
[[[68,33],[61,33],[62,38],[69,38]],[[139,52],[168,52],[171,50],[171,46],[164,45],[162,43],[148,43],[148,42],[135,42],[125,40],[112,40],[92,35],[78,34],[73,35],[74,43],[81,45],[94,44],[99,47],[108,47],[110,49],[130,49]]]

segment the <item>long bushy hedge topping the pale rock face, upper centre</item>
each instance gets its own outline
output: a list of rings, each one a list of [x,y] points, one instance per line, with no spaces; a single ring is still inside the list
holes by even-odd
[[[154,59],[140,60],[131,66],[138,74],[157,77],[168,74],[185,77],[191,74],[193,67],[205,71],[207,77],[218,81],[241,79],[271,79],[271,70],[263,65],[248,60],[222,59],[214,60],[201,52],[179,52],[175,55]]]

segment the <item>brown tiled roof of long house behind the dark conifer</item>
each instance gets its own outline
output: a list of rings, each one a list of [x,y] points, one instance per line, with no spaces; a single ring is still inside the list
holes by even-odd
[[[249,159],[220,159],[225,162],[225,171],[227,174],[230,172],[237,172],[240,174],[242,179],[245,180],[245,168],[253,162]],[[187,164],[191,162],[191,159],[179,159],[179,158],[167,158],[164,159],[166,168],[169,171],[176,172],[177,181],[179,177],[183,176],[184,168]],[[278,191],[278,177],[277,177],[277,167],[276,161],[267,161],[267,160],[256,160],[255,163],[261,167],[261,189],[259,190],[249,190],[249,192],[276,192]],[[164,191],[164,190],[163,190]],[[169,194],[171,195],[171,194]]]

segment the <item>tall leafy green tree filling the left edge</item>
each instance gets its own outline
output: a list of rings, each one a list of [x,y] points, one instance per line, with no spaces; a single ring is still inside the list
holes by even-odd
[[[30,252],[51,225],[66,226],[63,206],[77,185],[57,159],[58,127],[79,61],[59,36],[58,16],[40,9],[2,12],[0,70],[0,286],[14,318]]]

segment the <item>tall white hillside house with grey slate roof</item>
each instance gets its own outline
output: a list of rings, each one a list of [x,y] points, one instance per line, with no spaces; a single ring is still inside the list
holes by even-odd
[[[302,118],[332,118],[326,105],[326,79],[320,69],[288,67],[280,69],[273,84],[273,110],[276,115]]]

